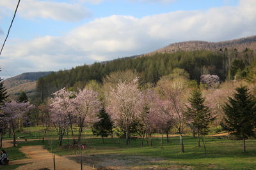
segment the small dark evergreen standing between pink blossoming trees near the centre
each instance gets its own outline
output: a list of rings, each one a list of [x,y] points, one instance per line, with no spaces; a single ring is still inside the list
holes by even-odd
[[[108,137],[109,133],[112,132],[113,123],[104,108],[99,111],[98,117],[100,120],[93,124],[92,132],[94,135],[101,136],[104,143],[104,137]]]

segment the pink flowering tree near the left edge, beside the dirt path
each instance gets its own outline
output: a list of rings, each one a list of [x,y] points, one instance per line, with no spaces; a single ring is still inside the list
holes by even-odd
[[[10,125],[13,133],[13,146],[16,146],[16,136],[15,130],[19,123],[19,118],[22,118],[25,113],[27,113],[32,108],[35,108],[32,104],[27,103],[17,103],[12,101],[10,103],[5,102],[3,106],[1,106],[1,110],[3,111],[4,121]]]

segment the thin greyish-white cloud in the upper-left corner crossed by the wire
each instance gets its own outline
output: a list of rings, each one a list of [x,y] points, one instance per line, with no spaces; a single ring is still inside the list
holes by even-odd
[[[1,0],[0,6],[8,10],[15,10],[16,4],[10,0]],[[23,0],[20,2],[18,13],[26,18],[51,18],[73,22],[90,17],[90,11],[81,4],[56,3],[52,1]]]

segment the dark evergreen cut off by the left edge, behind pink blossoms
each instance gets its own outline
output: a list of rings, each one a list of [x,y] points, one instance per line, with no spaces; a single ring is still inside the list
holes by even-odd
[[[8,96],[9,95],[7,94],[7,91],[4,87],[3,79],[0,78],[0,106],[3,105],[4,101],[6,101]],[[3,136],[6,131],[6,128],[7,128],[6,120],[3,113],[1,113],[1,110],[0,110],[0,148],[2,148]]]

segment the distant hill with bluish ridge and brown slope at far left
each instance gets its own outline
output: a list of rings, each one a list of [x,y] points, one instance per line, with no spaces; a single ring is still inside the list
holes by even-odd
[[[22,73],[4,80],[4,87],[8,90],[11,98],[19,96],[22,91],[26,92],[28,96],[33,96],[36,90],[36,80],[48,74],[51,74],[51,71]]]

